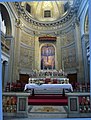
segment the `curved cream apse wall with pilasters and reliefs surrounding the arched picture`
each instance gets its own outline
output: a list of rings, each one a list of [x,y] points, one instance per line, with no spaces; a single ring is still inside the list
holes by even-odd
[[[6,8],[12,10],[9,12],[12,16],[10,19],[13,21],[10,81],[19,80],[20,74],[29,75],[32,70],[40,70],[40,48],[45,43],[55,47],[56,70],[63,69],[69,75],[76,74],[77,81],[84,81],[87,75],[84,76],[85,62],[81,30],[83,27],[79,10],[75,11],[72,8],[57,21],[38,22],[27,16],[17,2],[5,4]],[[56,41],[40,42],[39,37],[43,36],[56,37]]]

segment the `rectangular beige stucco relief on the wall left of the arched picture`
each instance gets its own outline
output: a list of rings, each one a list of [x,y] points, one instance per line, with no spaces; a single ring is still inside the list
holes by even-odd
[[[20,48],[20,66],[21,68],[32,68],[32,54],[30,49]]]

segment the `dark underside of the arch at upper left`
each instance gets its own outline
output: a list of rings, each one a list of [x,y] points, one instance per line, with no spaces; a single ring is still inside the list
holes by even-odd
[[[12,27],[11,27],[11,19],[10,19],[9,13],[6,7],[1,3],[0,3],[0,8],[1,8],[2,21],[4,21],[4,24],[6,26],[6,35],[11,36]]]

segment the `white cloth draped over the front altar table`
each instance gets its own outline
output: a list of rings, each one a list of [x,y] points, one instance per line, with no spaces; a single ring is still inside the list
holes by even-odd
[[[71,84],[42,84],[38,85],[35,83],[26,84],[24,90],[34,89],[34,90],[60,90],[60,89],[69,89],[73,91]]]

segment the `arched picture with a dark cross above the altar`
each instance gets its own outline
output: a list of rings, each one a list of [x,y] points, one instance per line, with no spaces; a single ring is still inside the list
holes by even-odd
[[[41,48],[41,69],[55,69],[55,48],[53,45],[45,44]]]

